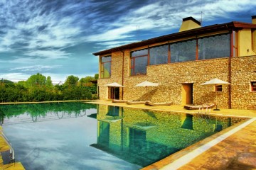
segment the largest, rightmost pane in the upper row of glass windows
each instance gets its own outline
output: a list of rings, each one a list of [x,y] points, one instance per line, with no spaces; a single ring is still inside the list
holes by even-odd
[[[230,34],[198,39],[198,60],[230,57]]]

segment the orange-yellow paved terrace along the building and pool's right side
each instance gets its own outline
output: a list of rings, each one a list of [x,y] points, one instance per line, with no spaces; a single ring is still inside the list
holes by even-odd
[[[127,105],[127,103],[112,103],[112,101],[93,101],[90,103],[161,111],[180,111],[181,113],[192,114],[197,112],[195,110],[188,111],[183,106],[177,105]],[[146,166],[142,170],[256,169],[256,111],[221,108],[220,111],[211,111],[210,114],[246,117],[250,120],[222,130],[191,147]]]

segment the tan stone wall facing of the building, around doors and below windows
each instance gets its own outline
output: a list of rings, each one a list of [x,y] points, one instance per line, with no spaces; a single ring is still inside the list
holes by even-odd
[[[117,82],[124,85],[124,100],[173,102],[182,104],[182,84],[193,84],[193,104],[213,102],[216,95],[218,107],[256,109],[256,93],[250,91],[250,81],[256,81],[256,56],[233,57],[231,60],[231,84],[223,85],[223,91],[215,92],[213,86],[202,86],[204,82],[218,78],[229,81],[229,58],[159,64],[147,67],[145,76],[129,76],[130,51],[112,52],[112,75],[110,79],[99,79],[100,99],[107,99],[105,84]],[[122,63],[124,72],[122,74]],[[124,77],[122,82],[122,77]],[[159,83],[157,87],[135,87],[142,81]],[[147,91],[147,93],[146,93]],[[122,88],[120,88],[122,98]]]

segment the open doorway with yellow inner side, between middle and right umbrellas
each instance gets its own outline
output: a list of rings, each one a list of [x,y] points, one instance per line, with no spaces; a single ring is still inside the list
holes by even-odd
[[[193,84],[182,84],[181,104],[193,103]]]

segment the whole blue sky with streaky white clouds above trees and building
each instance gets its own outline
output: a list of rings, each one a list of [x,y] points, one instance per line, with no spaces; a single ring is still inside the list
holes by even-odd
[[[0,0],[0,79],[65,81],[98,73],[93,52],[201,26],[251,23],[255,0]]]

